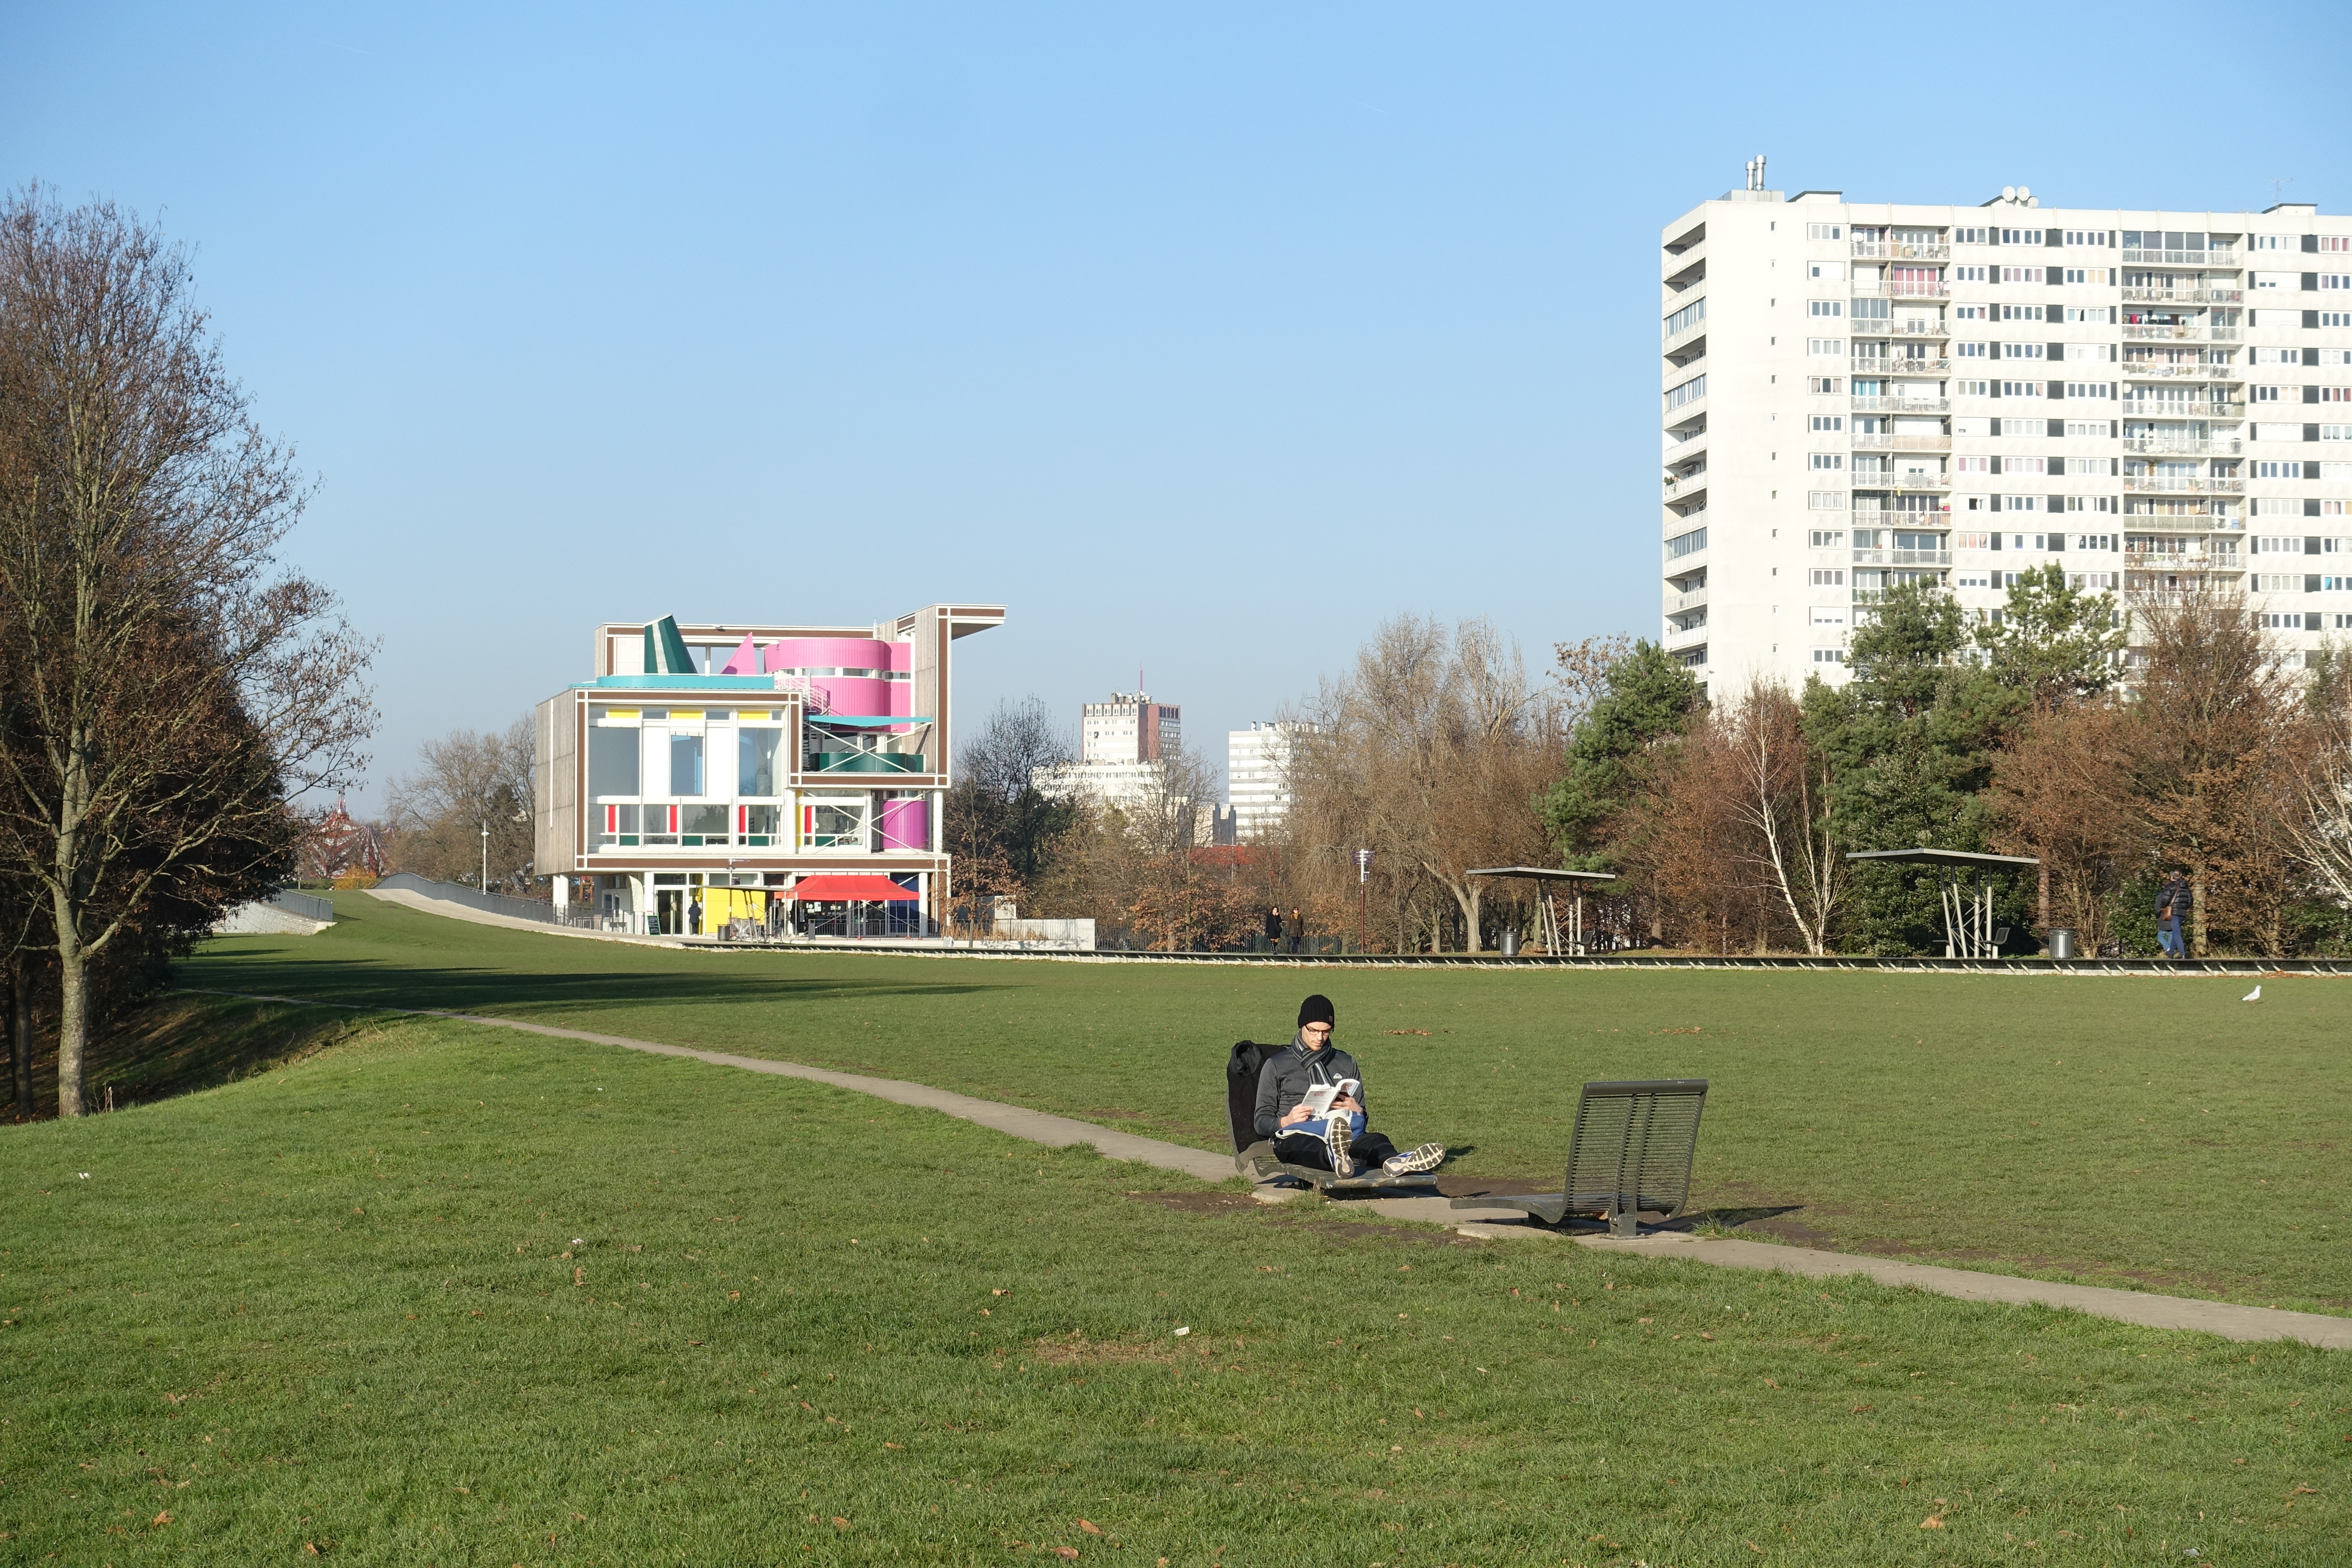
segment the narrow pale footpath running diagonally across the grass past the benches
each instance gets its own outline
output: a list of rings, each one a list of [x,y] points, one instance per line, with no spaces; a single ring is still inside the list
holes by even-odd
[[[503,919],[496,914],[477,914],[477,919],[503,924]],[[456,1023],[477,1023],[494,1030],[522,1030],[524,1034],[546,1034],[550,1039],[583,1039],[597,1046],[647,1051],[652,1056],[687,1056],[699,1063],[710,1063],[713,1067],[741,1067],[743,1072],[767,1072],[771,1077],[783,1077],[783,1079],[809,1079],[814,1084],[833,1084],[835,1088],[851,1088],[856,1093],[868,1093],[875,1095],[877,1100],[891,1100],[896,1105],[917,1105],[922,1110],[936,1110],[948,1117],[960,1117],[962,1121],[974,1121],[978,1126],[995,1128],[1011,1138],[1025,1138],[1030,1143],[1042,1143],[1056,1150],[1070,1145],[1094,1145],[1101,1154],[1110,1159],[1157,1166],[1162,1171],[1178,1171],[1183,1175],[1204,1182],[1223,1182],[1235,1175],[1232,1159],[1228,1154],[1188,1150],[1181,1143],[1162,1143],[1160,1138],[1136,1138],[1134,1133],[1096,1126],[1094,1121],[1077,1121],[1075,1117],[1054,1117],[1042,1110],[1025,1110],[1021,1105],[1004,1105],[1000,1100],[960,1095],[948,1088],[931,1088],[929,1084],[903,1084],[898,1079],[866,1077],[863,1072],[833,1072],[830,1067],[804,1067],[800,1063],[779,1063],[760,1056],[729,1056],[727,1051],[696,1051],[691,1046],[666,1046],[652,1039],[628,1039],[626,1034],[562,1030],[546,1023],[522,1023],[517,1018],[487,1018],[482,1013],[445,1013],[437,1009],[419,1009],[419,1006],[360,1006],[353,1001],[320,1001],[315,997],[263,997],[256,992],[198,990],[195,994],[240,997],[245,1001],[285,1001],[294,1006],[332,1006],[353,1013],[405,1013],[414,1018],[449,1018]],[[1294,1190],[1261,1187],[1256,1197],[1258,1201],[1265,1204],[1284,1204],[1301,1194]],[[1893,1286],[1898,1291],[1917,1288],[1971,1302],[2013,1302],[2013,1305],[2034,1302],[2042,1307],[2067,1307],[2072,1312],[2084,1312],[2089,1316],[2105,1316],[2119,1324],[2138,1324],[2143,1328],[2185,1328],[2192,1333],[2211,1333],[2223,1340],[2244,1340],[2244,1342],[2300,1340],[2303,1345],[2319,1345],[2321,1349],[2352,1349],[2352,1319],[2328,1316],[2321,1312],[2279,1312],[2277,1307],[2239,1307],[2232,1302],[2209,1302],[2187,1295],[2112,1291],[2105,1286],[2070,1286],[2070,1284],[2053,1284],[2046,1279],[2018,1279],[2013,1274],[1978,1274],[1976,1269],[1945,1269],[1931,1262],[1900,1262],[1896,1258],[1865,1258],[1856,1253],[1823,1253],[1804,1246],[1776,1246],[1769,1241],[1691,1237],[1684,1232],[1651,1232],[1644,1237],[1569,1234],[1531,1225],[1526,1215],[1522,1215],[1517,1208],[1454,1208],[1454,1204],[1442,1197],[1334,1199],[1327,1213],[1336,1218],[1418,1220],[1425,1225],[1444,1225],[1458,1229],[1465,1237],[1479,1237],[1489,1241],[1555,1241],[1555,1244],[1573,1241],[1576,1246],[1588,1246],[1592,1251],[1632,1253],[1639,1258],[1653,1258],[1665,1262],[1710,1262],[1731,1269],[1778,1269],[1783,1274],[1804,1274],[1811,1279],[1846,1279],[1860,1274],[1875,1284]]]

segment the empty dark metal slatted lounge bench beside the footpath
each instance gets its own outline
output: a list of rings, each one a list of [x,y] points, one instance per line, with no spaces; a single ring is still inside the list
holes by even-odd
[[[1590,1215],[1609,1220],[1613,1237],[1637,1237],[1642,1213],[1672,1220],[1691,1199],[1705,1105],[1705,1079],[1585,1084],[1559,1192],[1454,1199],[1454,1208],[1522,1208],[1545,1225]]]

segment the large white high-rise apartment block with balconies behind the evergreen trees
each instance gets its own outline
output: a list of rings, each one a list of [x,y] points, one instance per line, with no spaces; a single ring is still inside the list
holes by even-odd
[[[1992,616],[2244,592],[2352,632],[2352,219],[1795,200],[1665,226],[1665,646],[1719,691],[1839,682],[1898,583]]]

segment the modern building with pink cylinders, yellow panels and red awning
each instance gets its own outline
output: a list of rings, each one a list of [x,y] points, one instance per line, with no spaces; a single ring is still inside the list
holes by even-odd
[[[536,715],[555,903],[642,933],[938,936],[950,649],[1002,623],[600,625],[595,677]]]

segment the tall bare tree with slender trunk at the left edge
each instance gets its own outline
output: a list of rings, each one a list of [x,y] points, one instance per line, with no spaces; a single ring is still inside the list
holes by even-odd
[[[273,559],[301,508],[186,256],[108,202],[0,202],[0,853],[47,903],[61,1114],[92,964],[183,867],[365,764],[372,644]],[[263,766],[207,745],[223,712]]]

